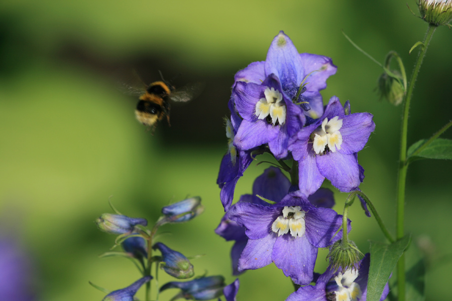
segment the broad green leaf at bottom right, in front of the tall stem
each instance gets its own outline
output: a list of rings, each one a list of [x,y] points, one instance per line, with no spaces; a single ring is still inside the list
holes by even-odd
[[[371,242],[367,301],[380,300],[389,276],[409,242],[409,235],[405,235],[403,238],[389,245],[381,242]]]

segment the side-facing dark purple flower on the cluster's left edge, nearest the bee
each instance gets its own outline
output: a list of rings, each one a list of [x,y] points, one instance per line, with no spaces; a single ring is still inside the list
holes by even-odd
[[[234,137],[242,119],[234,109],[234,101],[231,97],[228,103],[231,110],[231,120],[226,119],[226,136],[228,137],[228,152],[221,160],[216,184],[221,188],[220,200],[224,211],[228,211],[234,199],[234,190],[237,181],[243,176],[245,170],[250,166],[251,150],[238,150],[234,145]]]

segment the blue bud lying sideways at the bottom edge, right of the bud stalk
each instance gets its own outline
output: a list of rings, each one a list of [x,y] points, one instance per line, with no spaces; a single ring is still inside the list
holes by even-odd
[[[223,276],[210,276],[194,279],[187,282],[168,282],[160,291],[168,288],[180,288],[180,296],[185,299],[210,300],[223,294]]]

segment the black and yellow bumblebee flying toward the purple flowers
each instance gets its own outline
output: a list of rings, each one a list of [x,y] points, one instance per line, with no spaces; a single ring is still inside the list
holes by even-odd
[[[170,103],[172,101],[190,101],[198,97],[204,88],[203,83],[196,82],[175,89],[163,77],[161,81],[143,86],[144,88],[134,88],[125,83],[121,83],[121,90],[128,95],[139,96],[135,116],[140,123],[147,125],[149,128],[153,127],[153,129],[155,129],[157,123],[165,118],[165,116],[168,124],[171,125]]]

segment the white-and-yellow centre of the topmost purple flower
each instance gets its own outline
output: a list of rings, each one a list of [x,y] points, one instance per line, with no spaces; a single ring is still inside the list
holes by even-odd
[[[266,88],[264,95],[265,98],[259,99],[256,103],[256,116],[258,119],[266,119],[270,115],[273,125],[277,121],[282,125],[286,120],[286,105],[282,94],[274,88]]]

